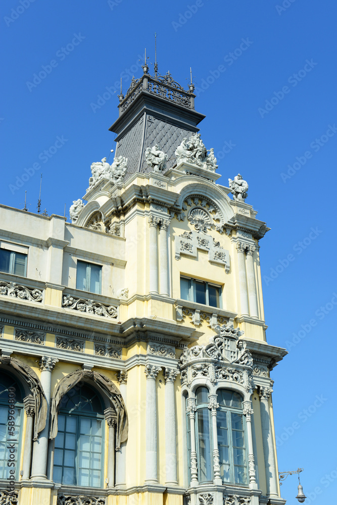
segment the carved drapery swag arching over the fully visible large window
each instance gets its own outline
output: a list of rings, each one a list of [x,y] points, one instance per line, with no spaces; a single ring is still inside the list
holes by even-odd
[[[63,396],[81,380],[91,380],[101,392],[110,399],[117,415],[116,424],[116,450],[122,442],[126,442],[128,433],[128,419],[126,408],[121,393],[108,377],[90,370],[78,370],[66,375],[55,388],[51,406],[51,428],[49,437],[56,438],[58,432],[58,411]]]

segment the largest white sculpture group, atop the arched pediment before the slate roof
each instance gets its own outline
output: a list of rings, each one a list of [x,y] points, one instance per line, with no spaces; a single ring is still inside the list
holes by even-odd
[[[215,172],[218,168],[213,147],[209,151],[206,149],[200,138],[200,133],[194,133],[188,140],[187,137],[184,137],[176,148],[175,156],[177,165],[182,162],[190,163],[211,172]]]

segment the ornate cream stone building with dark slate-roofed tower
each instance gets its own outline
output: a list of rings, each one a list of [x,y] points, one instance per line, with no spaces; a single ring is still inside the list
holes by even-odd
[[[1,505],[284,503],[268,228],[217,183],[194,86],[143,71],[71,223],[1,206]]]

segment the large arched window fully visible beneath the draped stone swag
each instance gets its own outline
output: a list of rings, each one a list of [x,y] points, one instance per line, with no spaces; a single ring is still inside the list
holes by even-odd
[[[54,482],[103,487],[103,409],[99,395],[85,383],[64,395],[55,439]]]

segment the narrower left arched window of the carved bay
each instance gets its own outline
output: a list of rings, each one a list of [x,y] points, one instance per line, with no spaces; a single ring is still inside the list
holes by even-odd
[[[211,451],[211,415],[208,409],[207,387],[200,386],[196,390],[196,438],[198,458],[198,481],[212,482],[212,451]]]

